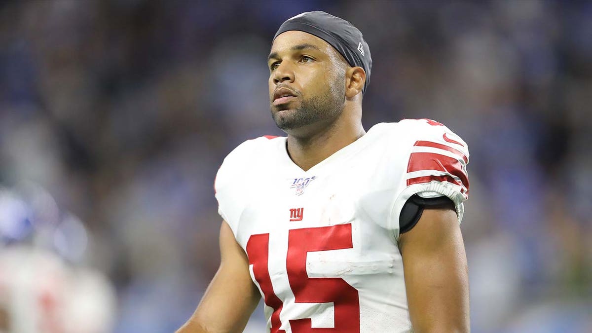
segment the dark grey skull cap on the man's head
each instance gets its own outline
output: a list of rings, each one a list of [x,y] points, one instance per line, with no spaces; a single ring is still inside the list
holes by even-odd
[[[366,72],[366,82],[362,91],[370,82],[372,57],[368,44],[361,31],[343,18],[334,17],[323,11],[303,12],[282,23],[274,40],[279,34],[290,30],[304,31],[326,41],[347,60],[350,66],[360,66]]]

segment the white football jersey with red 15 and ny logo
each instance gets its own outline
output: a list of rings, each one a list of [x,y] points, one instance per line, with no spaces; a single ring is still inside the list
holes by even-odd
[[[433,120],[381,123],[303,171],[286,137],[247,140],[218,171],[221,216],[249,257],[268,332],[410,332],[399,215],[446,196],[459,222],[466,143]]]

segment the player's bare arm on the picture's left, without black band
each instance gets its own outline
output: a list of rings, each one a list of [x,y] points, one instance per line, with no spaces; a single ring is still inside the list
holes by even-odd
[[[249,259],[224,221],[220,268],[194,314],[177,333],[242,332],[260,299],[249,274]]]

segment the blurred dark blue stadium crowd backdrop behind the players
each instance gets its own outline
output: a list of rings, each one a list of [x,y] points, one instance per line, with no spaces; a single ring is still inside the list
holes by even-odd
[[[219,260],[218,166],[282,135],[271,39],[315,9],[368,41],[366,130],[430,118],[469,143],[473,332],[592,332],[589,1],[1,2],[0,251],[104,273],[113,332],[178,328]]]

